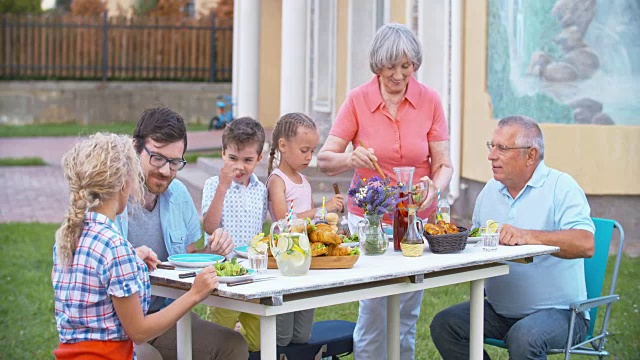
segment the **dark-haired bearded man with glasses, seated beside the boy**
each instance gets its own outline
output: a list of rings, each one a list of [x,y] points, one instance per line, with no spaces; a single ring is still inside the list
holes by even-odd
[[[133,146],[145,175],[144,205],[129,204],[117,217],[122,235],[136,248],[149,247],[160,261],[182,253],[229,254],[233,242],[222,229],[206,239],[204,249],[195,247],[202,236],[200,217],[189,191],[175,179],[186,164],[187,129],[182,117],[166,107],[145,110],[134,130]],[[162,309],[169,301],[152,296],[148,313]],[[202,320],[193,312],[191,327],[194,359],[247,358],[247,343],[239,333]],[[175,359],[176,352],[175,326],[147,344],[136,345],[141,360]]]

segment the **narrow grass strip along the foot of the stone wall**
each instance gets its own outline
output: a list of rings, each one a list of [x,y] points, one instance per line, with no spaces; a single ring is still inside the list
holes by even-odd
[[[40,137],[40,136],[78,136],[91,135],[99,131],[116,134],[133,134],[135,122],[120,122],[112,124],[76,123],[64,124],[31,124],[31,125],[0,125],[0,138],[8,137]],[[207,124],[187,124],[189,131],[207,130]]]

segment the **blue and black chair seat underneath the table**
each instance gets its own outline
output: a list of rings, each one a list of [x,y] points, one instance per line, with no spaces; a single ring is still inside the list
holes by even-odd
[[[306,344],[278,346],[278,358],[285,355],[289,360],[316,360],[340,356],[353,352],[353,330],[356,324],[344,320],[318,321],[313,324],[311,338]],[[260,351],[249,353],[249,360],[259,360]]]

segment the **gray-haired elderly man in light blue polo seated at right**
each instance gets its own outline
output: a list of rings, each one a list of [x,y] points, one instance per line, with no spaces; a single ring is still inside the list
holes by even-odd
[[[567,342],[569,303],[587,296],[583,258],[593,255],[595,231],[589,204],[571,176],[545,165],[542,132],[532,119],[500,120],[487,148],[493,179],[478,195],[473,225],[502,224],[502,245],[544,244],[560,251],[510,264],[508,275],[487,280],[484,335],[503,339],[512,359],[546,359],[547,349]],[[585,312],[572,341],[588,327]],[[444,359],[468,359],[469,303],[438,313],[431,338]]]

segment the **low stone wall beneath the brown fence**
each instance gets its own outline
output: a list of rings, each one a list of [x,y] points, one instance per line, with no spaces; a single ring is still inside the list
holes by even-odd
[[[230,83],[2,81],[0,124],[129,122],[155,105],[206,123],[223,94],[231,94]]]

